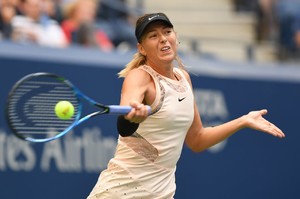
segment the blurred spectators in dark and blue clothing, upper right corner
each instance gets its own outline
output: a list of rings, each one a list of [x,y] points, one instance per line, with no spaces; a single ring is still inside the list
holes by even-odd
[[[300,59],[300,0],[233,2],[236,11],[255,14],[257,42],[274,42],[280,60]]]

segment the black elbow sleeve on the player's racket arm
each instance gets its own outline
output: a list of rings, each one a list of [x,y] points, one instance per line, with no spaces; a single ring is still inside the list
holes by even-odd
[[[118,132],[122,137],[131,136],[139,127],[138,123],[130,122],[120,115],[117,120]]]

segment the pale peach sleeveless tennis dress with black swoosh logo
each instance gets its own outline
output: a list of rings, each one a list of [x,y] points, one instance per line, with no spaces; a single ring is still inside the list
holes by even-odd
[[[172,199],[175,170],[194,118],[192,89],[180,69],[179,81],[140,66],[154,79],[152,114],[129,137],[119,136],[114,158],[101,172],[88,199]]]

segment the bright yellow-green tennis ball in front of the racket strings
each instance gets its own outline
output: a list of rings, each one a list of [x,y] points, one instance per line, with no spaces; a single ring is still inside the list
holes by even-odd
[[[69,101],[59,101],[55,105],[54,111],[58,118],[67,120],[74,115],[74,106]]]

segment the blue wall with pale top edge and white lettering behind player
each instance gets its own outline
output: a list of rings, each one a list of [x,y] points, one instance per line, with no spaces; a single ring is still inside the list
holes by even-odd
[[[100,116],[53,142],[18,140],[4,117],[13,84],[28,73],[53,72],[95,100],[118,104],[122,79],[117,72],[131,57],[132,53],[0,44],[0,198],[85,198],[112,157],[117,138],[116,117]],[[287,137],[280,140],[244,129],[203,153],[184,147],[175,198],[299,198],[300,67],[183,60],[204,125],[267,108],[266,118]]]

